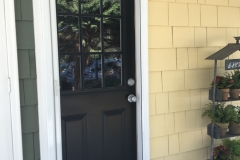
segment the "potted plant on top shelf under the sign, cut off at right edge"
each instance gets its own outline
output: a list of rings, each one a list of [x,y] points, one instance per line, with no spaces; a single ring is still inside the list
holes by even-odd
[[[231,77],[233,79],[233,84],[230,88],[230,98],[231,99],[238,99],[240,93],[240,71],[234,70],[231,72]]]

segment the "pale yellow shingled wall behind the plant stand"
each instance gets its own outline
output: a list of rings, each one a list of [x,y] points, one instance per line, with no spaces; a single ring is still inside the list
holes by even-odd
[[[201,114],[210,102],[214,61],[204,59],[240,36],[240,1],[148,4],[151,159],[206,159],[210,120]],[[230,58],[240,58],[240,52]],[[217,74],[224,72],[224,61],[218,61]]]

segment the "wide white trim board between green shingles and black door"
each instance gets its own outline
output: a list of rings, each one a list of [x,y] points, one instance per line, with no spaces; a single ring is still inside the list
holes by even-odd
[[[55,0],[52,0],[55,2]],[[56,160],[50,0],[33,0],[40,156]]]

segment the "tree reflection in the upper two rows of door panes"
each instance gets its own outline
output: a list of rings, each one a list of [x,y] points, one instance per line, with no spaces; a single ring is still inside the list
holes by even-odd
[[[103,15],[120,15],[120,0],[103,0],[102,4]],[[81,12],[82,14],[99,15],[100,0],[82,0]],[[78,13],[78,0],[57,0],[58,13]],[[79,52],[79,27],[78,19],[73,16],[64,16],[59,19],[58,28],[68,26],[66,30],[59,33],[59,46],[62,52]],[[105,51],[119,51],[120,47],[120,23],[114,18],[103,19],[105,30],[111,30],[111,35],[107,34],[104,40]],[[108,26],[111,26],[109,28]],[[101,51],[100,39],[100,18],[98,17],[83,17],[83,51],[84,52],[98,52]]]

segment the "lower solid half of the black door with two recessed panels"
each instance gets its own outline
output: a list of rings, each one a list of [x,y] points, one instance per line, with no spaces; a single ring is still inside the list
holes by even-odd
[[[135,107],[127,96],[126,91],[62,96],[64,156],[77,147],[86,159],[135,159]]]

